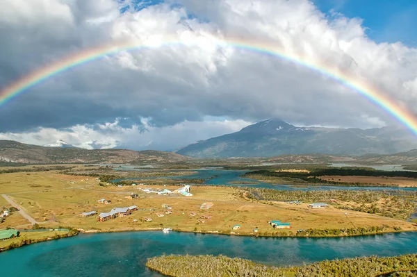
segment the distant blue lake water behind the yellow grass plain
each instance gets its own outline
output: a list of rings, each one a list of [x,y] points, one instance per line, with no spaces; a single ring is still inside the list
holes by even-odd
[[[125,170],[126,168],[118,169]],[[133,169],[128,170],[139,170],[144,169]],[[174,170],[172,170],[174,171]],[[185,171],[185,170],[181,170]],[[206,185],[228,185],[237,187],[264,187],[274,190],[417,190],[417,187],[344,187],[344,186],[331,186],[331,185],[309,185],[304,187],[295,187],[294,185],[286,184],[270,184],[260,181],[256,181],[250,178],[241,178],[240,176],[249,172],[247,170],[222,170],[222,169],[190,169],[190,171],[196,171],[196,174],[187,176],[165,176],[165,177],[149,177],[149,178],[125,178],[113,180],[113,182],[123,180],[146,180],[154,178],[170,178],[170,179],[204,179]],[[254,182],[255,184],[234,184],[231,182]]]

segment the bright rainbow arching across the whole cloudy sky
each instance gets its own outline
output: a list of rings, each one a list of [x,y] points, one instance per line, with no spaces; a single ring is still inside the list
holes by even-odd
[[[332,68],[329,65],[306,58],[304,56],[297,55],[297,53],[292,51],[286,51],[284,48],[277,45],[273,45],[268,42],[252,42],[245,39],[237,38],[215,38],[211,37],[209,40],[200,40],[193,39],[193,37],[186,37],[186,39],[173,38],[170,40],[168,37],[160,36],[155,40],[142,41],[130,41],[123,42],[120,44],[109,44],[93,49],[88,49],[75,53],[73,56],[64,58],[63,60],[58,60],[57,62],[51,63],[45,67],[42,67],[38,70],[35,70],[31,74],[20,78],[19,80],[11,83],[10,85],[4,87],[0,91],[0,107],[8,103],[8,101],[14,99],[19,94],[28,92],[31,87],[42,83],[43,81],[56,76],[62,72],[72,69],[73,67],[78,67],[84,65],[88,62],[98,60],[99,58],[104,58],[105,56],[113,56],[122,51],[133,51],[140,49],[152,49],[158,47],[173,47],[176,45],[179,46],[202,46],[204,43],[209,43],[215,45],[215,47],[233,47],[236,49],[243,49],[246,51],[252,51],[256,53],[268,54],[270,56],[275,56],[289,62],[293,62],[297,65],[302,65],[309,69],[312,69],[315,72],[327,76],[329,78],[338,81],[339,83],[350,87],[352,90],[359,92],[366,99],[375,103],[375,105],[384,109],[388,112],[393,118],[400,121],[401,124],[409,128],[414,134],[417,135],[417,119],[414,115],[411,115],[410,112],[398,106],[393,99],[384,96],[382,92],[377,90],[373,85],[361,81],[359,76],[354,76],[346,72],[341,72],[338,69]]]

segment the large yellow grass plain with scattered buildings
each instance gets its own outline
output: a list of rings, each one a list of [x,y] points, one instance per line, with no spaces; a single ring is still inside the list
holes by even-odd
[[[85,181],[81,181],[84,179]],[[88,180],[86,180],[88,179]],[[72,183],[75,182],[75,183]],[[291,205],[283,202],[269,204],[254,203],[238,196],[237,189],[232,187],[191,187],[194,196],[185,197],[177,194],[158,196],[139,190],[141,186],[100,187],[94,177],[65,176],[53,171],[1,174],[0,194],[7,194],[31,215],[40,226],[56,228],[72,226],[84,230],[112,231],[147,228],[170,227],[186,231],[220,231],[227,233],[235,224],[242,226],[236,233],[250,234],[255,227],[260,233],[274,230],[267,221],[281,220],[291,223],[293,233],[300,229],[316,228],[356,228],[367,226],[400,226],[402,230],[417,230],[415,224],[400,219],[391,219],[363,212],[339,210],[336,208],[312,210],[307,204]],[[142,186],[146,187],[146,186]],[[164,187],[152,186],[152,189]],[[178,187],[166,187],[175,190]],[[138,199],[127,199],[131,193],[139,194]],[[106,205],[97,203],[98,199],[111,199]],[[209,210],[199,207],[204,202],[213,202]],[[1,197],[0,203],[7,205]],[[20,204],[22,203],[22,204]],[[157,212],[164,212],[162,204],[172,207],[172,214],[157,217]],[[97,222],[97,217],[81,217],[81,212],[92,210],[109,212],[115,207],[137,205],[139,210],[127,217],[117,217],[105,222]],[[196,212],[197,216],[190,216]],[[347,215],[345,215],[347,212]],[[204,224],[197,224],[202,215],[211,215]],[[151,217],[152,222],[144,221]],[[138,219],[138,222],[133,222]],[[28,224],[19,213],[8,217],[0,228]]]

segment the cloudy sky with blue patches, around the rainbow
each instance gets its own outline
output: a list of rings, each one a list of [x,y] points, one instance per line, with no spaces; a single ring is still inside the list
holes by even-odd
[[[0,139],[174,150],[271,117],[398,124],[318,72],[219,41],[244,37],[320,60],[417,114],[416,13],[405,0],[0,0],[0,90],[86,49],[183,42],[120,51],[31,87],[0,106]]]

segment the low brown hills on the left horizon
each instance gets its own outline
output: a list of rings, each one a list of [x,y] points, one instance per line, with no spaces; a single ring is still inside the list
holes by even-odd
[[[81,149],[23,144],[0,140],[0,162],[24,164],[108,163],[140,164],[152,162],[179,162],[190,160],[177,153],[163,151],[133,151],[126,149]]]

